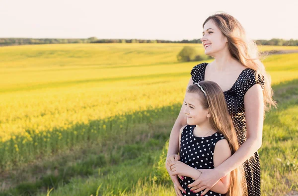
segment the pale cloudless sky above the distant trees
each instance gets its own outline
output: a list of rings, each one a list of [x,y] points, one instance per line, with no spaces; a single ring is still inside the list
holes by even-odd
[[[199,39],[231,14],[251,39],[298,39],[298,0],[0,0],[0,37]]]

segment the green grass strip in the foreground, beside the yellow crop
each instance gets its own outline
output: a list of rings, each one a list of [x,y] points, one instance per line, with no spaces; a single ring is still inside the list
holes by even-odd
[[[262,196],[283,195],[292,190],[298,190],[298,143],[295,142],[298,139],[297,84],[298,80],[294,80],[274,87],[275,99],[278,100],[279,107],[266,116],[263,144],[259,150]],[[286,102],[283,103],[283,100]],[[175,110],[179,110],[179,105],[175,108]],[[286,118],[282,118],[284,115]],[[96,158],[94,154],[90,153],[83,158],[84,161],[76,160],[73,165],[63,167],[61,164],[61,168],[56,165],[49,169],[50,165],[55,164],[56,160],[53,160],[53,162],[48,163],[48,169],[55,173],[55,168],[58,167],[57,177],[54,174],[45,175],[42,181],[21,184],[10,192],[4,192],[4,195],[20,195],[21,193],[26,195],[25,193],[29,191],[32,195],[40,191],[43,193],[39,195],[45,195],[48,187],[54,187],[51,196],[72,196],[76,194],[80,196],[93,194],[95,196],[96,193],[104,196],[121,194],[141,196],[154,195],[155,193],[165,196],[172,195],[174,192],[163,165],[167,147],[165,141],[168,139],[173,120],[160,119],[159,126],[149,129],[149,131],[154,130],[156,133],[149,135],[150,132],[148,131],[145,137],[140,137],[142,139],[139,142],[131,141],[132,144],[124,144],[122,147],[116,145],[122,150],[117,150],[116,146],[114,146],[114,150],[107,150],[107,152],[114,152],[115,154],[111,156],[107,153],[108,156],[103,157],[113,161],[98,162],[100,156]],[[167,122],[167,124],[162,122]],[[142,130],[148,130],[146,124],[143,126],[145,127]],[[136,136],[140,134],[139,131],[134,131]],[[144,138],[146,137],[151,139],[145,141]],[[163,149],[161,149],[162,147]],[[44,166],[46,166],[45,163]],[[62,172],[64,170],[66,172]],[[65,177],[62,179],[60,174],[63,173]],[[99,186],[100,189],[97,191]]]

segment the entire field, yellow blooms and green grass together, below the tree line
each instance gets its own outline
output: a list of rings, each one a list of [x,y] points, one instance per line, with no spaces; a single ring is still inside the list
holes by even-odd
[[[1,195],[173,195],[162,154],[197,44],[0,48]],[[298,50],[263,46],[262,51]],[[298,58],[263,61],[279,107],[267,114],[262,195],[298,190]],[[158,164],[159,163],[159,164]]]

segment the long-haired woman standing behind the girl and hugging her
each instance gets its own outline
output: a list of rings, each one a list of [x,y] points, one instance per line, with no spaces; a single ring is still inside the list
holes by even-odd
[[[202,174],[189,186],[194,193],[203,191],[202,195],[205,195],[221,178],[243,164],[248,195],[260,196],[260,162],[257,150],[262,144],[264,111],[276,105],[272,100],[270,76],[258,60],[256,44],[246,40],[243,27],[231,15],[221,13],[208,17],[203,24],[201,41],[205,54],[215,60],[193,67],[188,86],[202,80],[214,81],[220,85],[240,147],[215,169],[199,169]],[[187,124],[184,109],[185,106],[182,105],[171,131],[166,161],[166,169],[179,196],[182,196],[181,191],[184,189],[177,176],[171,175],[170,163],[174,159],[180,159],[176,154],[179,149],[179,130]]]

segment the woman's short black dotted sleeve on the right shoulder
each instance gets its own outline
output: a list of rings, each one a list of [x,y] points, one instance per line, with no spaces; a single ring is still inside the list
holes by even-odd
[[[247,69],[247,73],[245,75],[245,78],[242,78],[242,85],[244,87],[244,94],[247,92],[249,88],[251,88],[255,84],[260,84],[262,90],[264,90],[265,86],[265,77],[259,73],[256,77],[257,71],[254,69]]]

